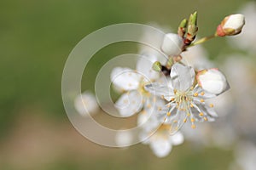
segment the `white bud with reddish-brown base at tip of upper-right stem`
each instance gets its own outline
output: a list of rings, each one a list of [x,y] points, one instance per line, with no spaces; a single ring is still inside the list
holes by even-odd
[[[216,33],[219,37],[234,36],[241,32],[244,25],[245,17],[243,14],[230,14],[218,25]]]

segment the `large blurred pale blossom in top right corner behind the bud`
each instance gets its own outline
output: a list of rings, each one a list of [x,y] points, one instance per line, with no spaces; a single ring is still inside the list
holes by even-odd
[[[245,15],[246,25],[241,31],[241,34],[229,38],[229,42],[232,46],[235,45],[237,48],[253,53],[256,51],[256,2],[251,1],[246,3],[241,8],[240,13]]]

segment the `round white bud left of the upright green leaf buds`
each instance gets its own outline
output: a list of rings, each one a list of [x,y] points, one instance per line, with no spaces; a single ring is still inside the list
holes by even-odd
[[[178,55],[183,51],[183,38],[177,34],[168,33],[162,43],[162,51],[167,55]]]

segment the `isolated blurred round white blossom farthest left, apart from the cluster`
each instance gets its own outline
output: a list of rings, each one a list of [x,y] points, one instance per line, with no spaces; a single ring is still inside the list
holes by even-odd
[[[74,108],[81,116],[89,116],[99,110],[99,105],[95,95],[89,91],[85,91],[74,99]]]

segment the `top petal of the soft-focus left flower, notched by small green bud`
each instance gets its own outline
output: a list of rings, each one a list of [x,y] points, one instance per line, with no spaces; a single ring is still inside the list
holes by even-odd
[[[147,54],[143,55],[137,61],[137,71],[143,75],[146,80],[155,80],[160,77],[160,73],[152,69],[152,65],[157,61],[155,55]]]

